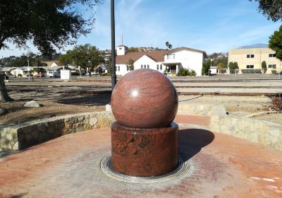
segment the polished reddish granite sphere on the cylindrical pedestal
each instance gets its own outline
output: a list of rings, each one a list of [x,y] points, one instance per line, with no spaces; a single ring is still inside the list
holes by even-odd
[[[123,126],[168,127],[176,117],[178,95],[164,74],[137,69],[118,81],[111,95],[111,107],[116,122]]]

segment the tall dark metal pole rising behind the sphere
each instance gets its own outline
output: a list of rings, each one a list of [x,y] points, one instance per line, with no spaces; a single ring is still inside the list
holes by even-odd
[[[115,17],[114,0],[111,0],[111,90],[116,86],[116,37],[115,37]]]

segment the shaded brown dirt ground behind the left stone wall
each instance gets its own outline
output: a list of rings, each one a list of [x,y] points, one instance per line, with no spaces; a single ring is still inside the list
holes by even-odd
[[[11,91],[9,94],[15,101],[0,104],[0,107],[8,110],[5,115],[0,116],[0,124],[18,124],[59,115],[103,111],[111,98],[110,93],[78,95],[75,92],[62,94]],[[30,100],[36,100],[43,107],[23,107]]]

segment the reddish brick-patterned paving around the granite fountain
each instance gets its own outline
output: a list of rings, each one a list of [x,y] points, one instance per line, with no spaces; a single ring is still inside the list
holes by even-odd
[[[196,129],[209,117],[180,115],[176,122],[190,174],[152,185],[114,180],[99,168],[111,152],[110,129],[97,129],[1,158],[0,197],[282,197],[282,153]]]

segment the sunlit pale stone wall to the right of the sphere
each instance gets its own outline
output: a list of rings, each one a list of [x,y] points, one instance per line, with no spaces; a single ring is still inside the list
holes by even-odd
[[[237,136],[282,151],[281,124],[227,115],[226,109],[217,105],[180,103],[178,114],[207,115],[211,118],[209,130],[212,132]]]

